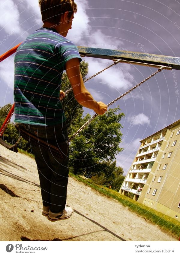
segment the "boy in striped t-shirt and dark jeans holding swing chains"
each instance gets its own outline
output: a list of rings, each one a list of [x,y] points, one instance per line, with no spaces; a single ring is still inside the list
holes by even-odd
[[[59,97],[64,97],[61,76],[66,70],[79,104],[102,115],[107,106],[86,90],[79,71],[77,47],[67,40],[77,5],[73,0],[39,0],[43,27],[29,35],[15,55],[15,122],[49,144],[59,147],[63,159],[32,142],[38,167],[44,216],[50,221],[69,218],[73,209],[66,204],[69,148],[67,126]]]

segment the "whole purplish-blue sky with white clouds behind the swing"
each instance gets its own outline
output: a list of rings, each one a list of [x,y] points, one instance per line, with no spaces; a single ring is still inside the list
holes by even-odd
[[[77,46],[180,57],[180,0],[76,0],[78,11],[67,38]],[[0,54],[42,27],[38,0],[0,0]],[[0,106],[13,103],[14,55],[0,63]],[[83,58],[87,77],[113,62]],[[118,64],[86,82],[95,100],[108,104],[156,71]],[[120,107],[124,150],[116,165],[128,172],[140,140],[180,119],[180,71],[164,70],[111,108]],[[92,111],[85,109],[85,113]]]

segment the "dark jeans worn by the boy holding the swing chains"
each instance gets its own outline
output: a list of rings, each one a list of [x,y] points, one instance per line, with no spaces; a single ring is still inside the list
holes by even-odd
[[[24,125],[24,124],[23,124]],[[42,147],[32,144],[35,155],[38,174],[41,185],[41,195],[44,206],[50,206],[53,213],[58,213],[64,209],[67,198],[68,183],[68,161],[69,146],[67,125],[43,126],[43,125],[25,125],[27,131],[35,134],[37,137],[46,138],[49,143],[59,146],[65,159],[54,156]]]

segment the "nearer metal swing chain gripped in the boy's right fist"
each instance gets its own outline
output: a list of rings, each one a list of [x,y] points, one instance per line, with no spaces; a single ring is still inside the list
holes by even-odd
[[[114,63],[115,64],[115,63]],[[136,86],[134,86],[133,88],[131,88],[130,90],[128,90],[126,93],[122,94],[120,97],[116,98],[116,100],[113,100],[112,102],[110,102],[109,104],[107,104],[107,106],[109,107],[110,105],[112,105],[113,103],[115,103],[117,100],[121,99],[122,97],[124,97],[125,95],[127,95],[128,93],[130,93],[132,90],[134,90],[135,88],[137,88],[138,86],[140,86],[141,84],[143,84],[144,82],[146,82],[148,79],[150,79],[151,77],[153,77],[154,75],[156,75],[157,73],[161,72],[161,68],[159,68],[156,72],[154,72],[152,75],[150,75],[149,77],[147,77],[146,79],[144,79],[142,82],[140,82],[139,84],[137,84]],[[77,134],[79,134],[80,131],[82,131],[92,120],[95,119],[95,117],[98,114],[95,114],[91,117],[91,119],[89,119],[84,125],[82,125],[81,128],[79,128],[78,131],[76,131],[67,141],[67,143],[69,143]]]

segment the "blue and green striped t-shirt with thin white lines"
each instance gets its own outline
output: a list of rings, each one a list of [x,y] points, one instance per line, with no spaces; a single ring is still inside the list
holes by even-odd
[[[65,64],[79,58],[77,47],[55,29],[29,35],[14,58],[15,122],[58,125],[66,120],[59,94]]]

